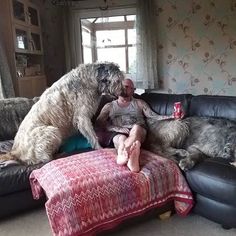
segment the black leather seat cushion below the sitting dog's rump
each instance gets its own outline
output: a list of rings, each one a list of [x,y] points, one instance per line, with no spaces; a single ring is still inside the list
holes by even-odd
[[[15,165],[0,170],[0,196],[30,188],[29,175],[45,163],[37,165]]]

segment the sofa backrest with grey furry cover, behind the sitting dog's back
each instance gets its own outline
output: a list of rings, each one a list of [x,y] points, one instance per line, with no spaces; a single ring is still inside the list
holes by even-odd
[[[20,123],[39,98],[0,99],[0,140],[10,140],[16,135]]]

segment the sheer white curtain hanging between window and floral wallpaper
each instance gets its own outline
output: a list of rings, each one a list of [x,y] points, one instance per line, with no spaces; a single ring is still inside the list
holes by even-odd
[[[137,0],[136,88],[158,88],[155,9],[153,0]]]

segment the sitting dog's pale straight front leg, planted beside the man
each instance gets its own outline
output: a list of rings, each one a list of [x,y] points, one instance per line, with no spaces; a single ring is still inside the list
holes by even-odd
[[[94,149],[100,149],[101,146],[98,142],[97,135],[93,129],[93,124],[90,119],[84,117],[77,118],[77,127],[78,130],[87,138],[88,142]]]

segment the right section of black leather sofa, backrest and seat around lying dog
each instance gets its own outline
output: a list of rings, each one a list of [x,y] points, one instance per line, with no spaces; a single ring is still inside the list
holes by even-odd
[[[170,115],[173,103],[181,101],[187,116],[218,117],[236,122],[236,97],[190,94],[143,94],[142,98],[159,114]],[[236,228],[236,167],[221,158],[209,158],[185,173],[195,197],[193,211]]]

